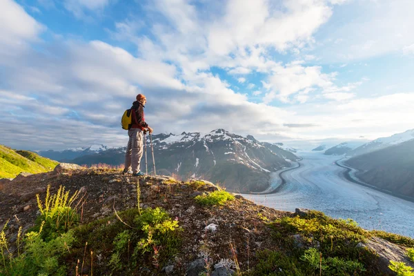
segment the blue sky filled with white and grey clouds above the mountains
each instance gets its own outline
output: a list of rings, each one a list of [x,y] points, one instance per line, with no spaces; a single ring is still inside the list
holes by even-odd
[[[3,0],[0,144],[124,146],[155,132],[286,144],[413,128],[411,0]]]

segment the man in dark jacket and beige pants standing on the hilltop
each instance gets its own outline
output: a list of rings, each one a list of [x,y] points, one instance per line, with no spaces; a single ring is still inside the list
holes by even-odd
[[[146,97],[142,94],[137,95],[137,101],[132,103],[132,126],[128,130],[128,148],[126,148],[124,173],[128,173],[132,167],[132,176],[139,177],[144,175],[139,170],[141,164],[143,148],[143,132],[152,133],[152,128],[145,121],[144,108]]]

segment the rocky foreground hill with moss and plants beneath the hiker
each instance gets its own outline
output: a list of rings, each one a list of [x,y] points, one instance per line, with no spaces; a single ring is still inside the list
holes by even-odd
[[[59,186],[79,193],[64,224],[37,215],[47,185],[50,195]],[[414,266],[414,239],[258,206],[206,181],[63,170],[14,179],[0,201],[0,250],[14,256],[0,262],[1,275],[393,275],[390,260]]]

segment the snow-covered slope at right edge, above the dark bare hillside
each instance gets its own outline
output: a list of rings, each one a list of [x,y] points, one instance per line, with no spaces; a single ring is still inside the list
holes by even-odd
[[[349,152],[350,155],[362,155],[367,152],[373,152],[374,150],[380,150],[382,148],[387,148],[388,146],[394,146],[397,144],[401,144],[405,141],[409,141],[414,139],[414,129],[407,130],[406,132],[397,133],[390,137],[383,137],[375,139],[369,143],[366,143],[355,150]]]

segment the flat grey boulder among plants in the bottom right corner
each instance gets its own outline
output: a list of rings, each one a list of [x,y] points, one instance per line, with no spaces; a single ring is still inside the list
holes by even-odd
[[[414,268],[414,263],[406,256],[407,248],[388,242],[380,237],[372,237],[371,239],[368,239],[366,243],[360,242],[357,244],[357,247],[367,248],[368,250],[373,250],[377,253],[380,260],[380,270],[386,273],[394,274],[391,269],[388,268],[390,261],[404,262],[407,266]]]

